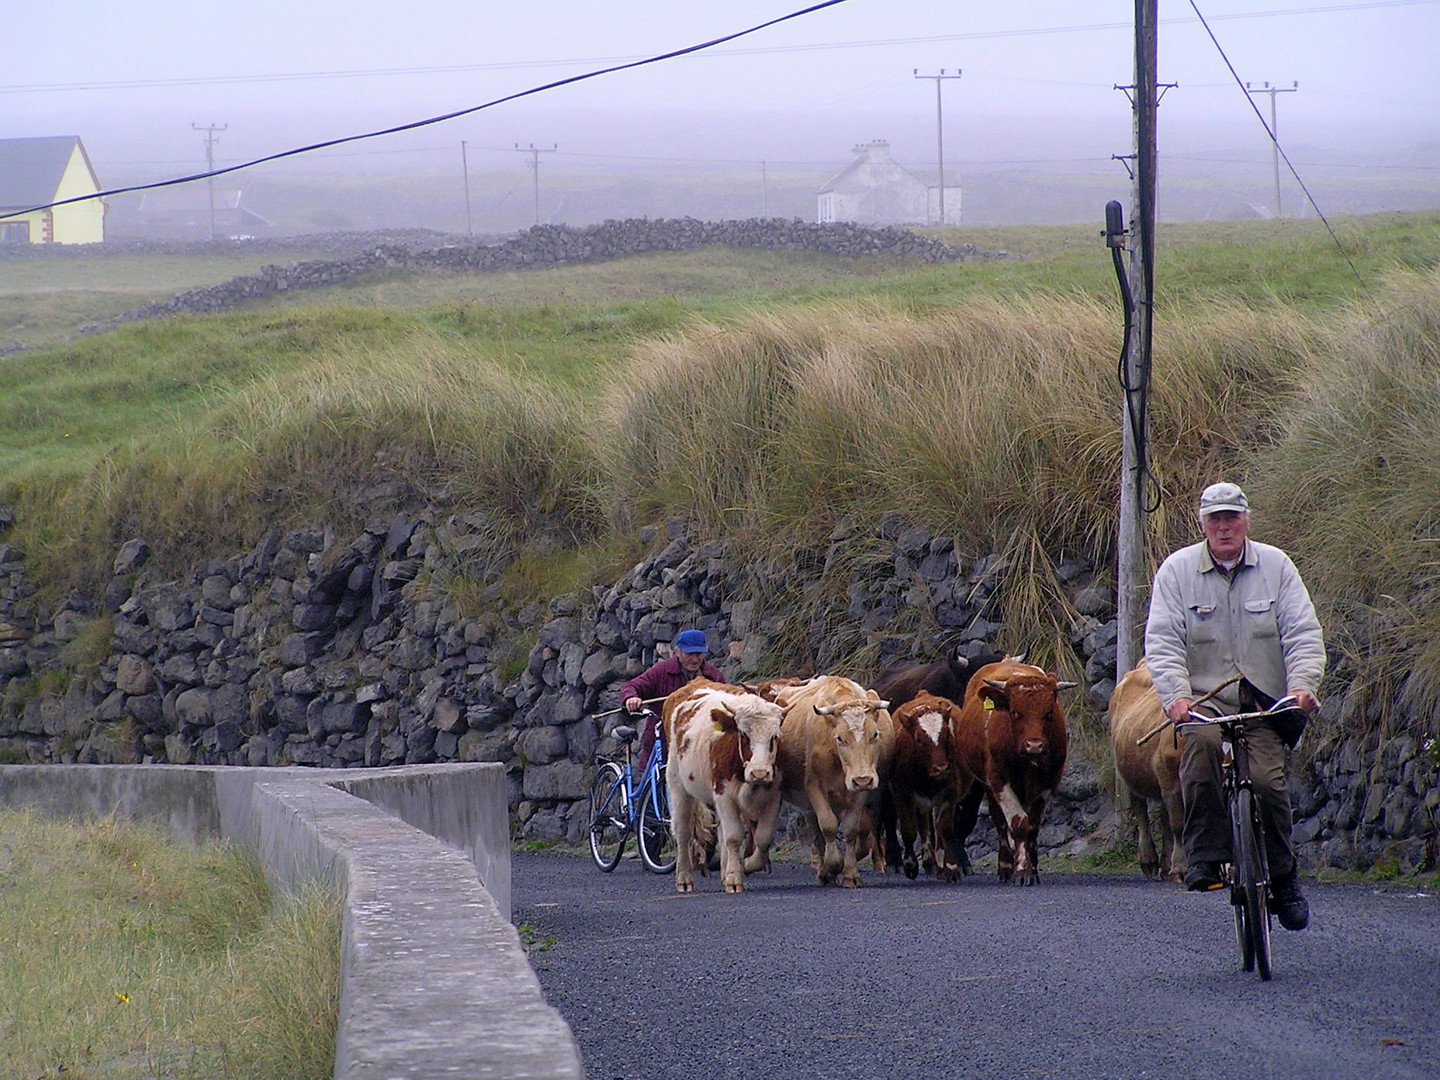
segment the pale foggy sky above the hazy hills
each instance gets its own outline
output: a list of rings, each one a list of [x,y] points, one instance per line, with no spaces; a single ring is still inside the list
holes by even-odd
[[[1440,0],[1197,0],[1240,79],[1282,94],[1299,163],[1369,167],[1440,144]],[[0,75],[0,137],[78,134],[101,173],[163,179],[204,164],[193,124],[226,124],[217,164],[468,108],[773,19],[801,0],[19,0]],[[14,10],[17,9],[17,10]],[[1188,0],[1161,0],[1162,160],[1270,144]],[[569,167],[844,163],[888,138],[945,157],[1104,167],[1129,151],[1133,4],[1123,0],[848,0],[714,52],[602,76],[325,158],[384,171],[449,160],[516,168],[514,144]],[[1269,118],[1269,98],[1254,99]],[[272,168],[320,166],[292,158]],[[1436,174],[1440,187],[1440,171]]]

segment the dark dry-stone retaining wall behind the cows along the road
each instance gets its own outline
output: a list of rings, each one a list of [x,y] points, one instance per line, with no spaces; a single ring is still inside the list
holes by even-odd
[[[831,670],[855,635],[881,668],[950,644],[978,654],[1002,629],[1004,560],[965,557],[953,539],[897,516],[870,531],[837,528],[824,550],[783,566],[739,563],[680,521],[641,539],[649,556],[609,588],[521,608],[503,605],[501,567],[458,517],[399,514],[348,541],[320,528],[272,533],[181,582],[151,580],[147,547],[131,540],[102,595],[72,593],[55,611],[36,602],[20,553],[0,544],[0,760],[500,762],[521,837],[580,841],[593,765],[619,750],[609,737],[618,717],[593,716],[680,629],[707,632],[727,678],[796,674],[775,670],[772,655],[782,635],[795,652],[793,596],[822,577],[840,583],[845,606],[805,632],[806,668]],[[492,606],[462,615],[445,596],[449,575],[488,580]],[[1083,559],[1060,559],[1057,576],[1079,612],[1074,662],[1103,708],[1113,593]],[[96,621],[104,658],[68,677],[73,642],[91,639]],[[1345,697],[1332,701],[1316,723],[1329,734],[1313,737],[1319,747],[1295,776],[1306,865],[1433,865],[1434,756],[1408,734],[1345,737]],[[1103,757],[1103,740],[1092,746]],[[1047,850],[1113,829],[1099,766],[1071,755]]]

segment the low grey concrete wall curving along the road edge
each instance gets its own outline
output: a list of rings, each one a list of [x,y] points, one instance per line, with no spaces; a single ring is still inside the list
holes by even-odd
[[[510,924],[507,793],[498,765],[0,766],[0,805],[223,838],[281,890],[337,887],[341,1080],[582,1076]]]

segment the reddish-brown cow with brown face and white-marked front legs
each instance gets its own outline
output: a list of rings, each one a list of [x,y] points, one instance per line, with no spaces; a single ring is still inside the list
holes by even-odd
[[[971,678],[956,729],[960,765],[976,782],[956,815],[956,842],[965,844],[982,795],[999,838],[999,880],[1032,886],[1040,880],[1040,822],[1066,768],[1068,737],[1054,674],[1002,660]]]

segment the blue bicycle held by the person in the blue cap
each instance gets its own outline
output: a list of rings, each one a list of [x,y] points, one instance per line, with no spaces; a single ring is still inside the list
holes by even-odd
[[[648,708],[636,716],[642,723],[657,719]],[[652,874],[670,874],[675,868],[675,837],[670,829],[670,789],[661,740],[655,740],[636,780],[631,743],[639,732],[621,726],[612,734],[625,744],[625,759],[600,765],[590,783],[590,855],[605,873],[615,870],[634,832],[645,868]]]

